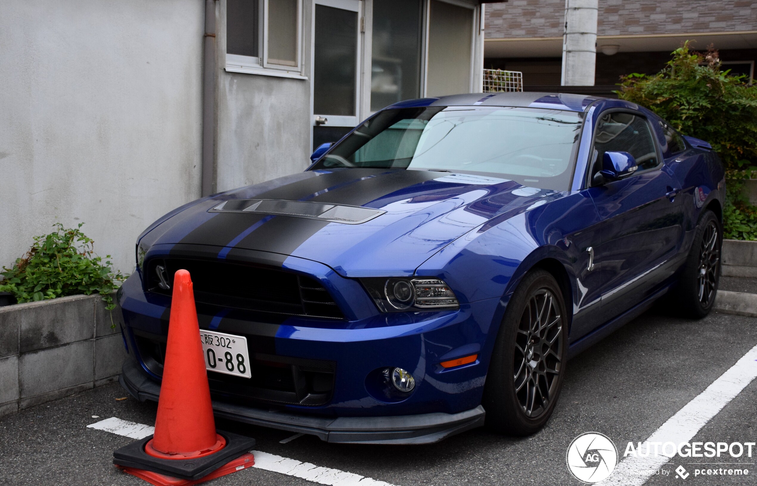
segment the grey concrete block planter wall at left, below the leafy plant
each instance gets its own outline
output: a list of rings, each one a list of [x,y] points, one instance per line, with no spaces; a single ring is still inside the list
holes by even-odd
[[[99,295],[0,307],[0,416],[117,379],[123,348]]]

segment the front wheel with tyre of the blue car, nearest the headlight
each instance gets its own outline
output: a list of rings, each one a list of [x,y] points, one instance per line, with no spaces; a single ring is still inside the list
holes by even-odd
[[[508,435],[531,435],[552,415],[567,360],[567,313],[556,280],[527,273],[502,319],[484,387],[487,425]]]

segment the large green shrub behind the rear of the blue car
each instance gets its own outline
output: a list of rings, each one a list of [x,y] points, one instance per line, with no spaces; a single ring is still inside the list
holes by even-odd
[[[718,51],[702,55],[689,43],[659,73],[621,78],[618,97],[654,111],[684,135],[706,140],[730,177],[757,168],[757,87],[721,71]]]

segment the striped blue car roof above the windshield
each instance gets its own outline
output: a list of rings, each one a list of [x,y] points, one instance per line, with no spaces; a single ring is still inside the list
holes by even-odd
[[[542,92],[507,92],[507,93],[469,93],[466,95],[449,95],[440,98],[419,98],[400,101],[388,108],[422,107],[422,106],[510,106],[524,108],[547,108],[564,111],[584,111],[600,98],[570,93]]]

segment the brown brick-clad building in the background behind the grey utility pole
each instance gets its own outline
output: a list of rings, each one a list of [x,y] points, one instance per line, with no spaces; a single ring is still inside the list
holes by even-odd
[[[718,49],[724,69],[754,76],[757,2],[752,0],[600,0],[597,92],[609,94],[620,76],[656,73],[670,52]],[[565,0],[511,0],[486,11],[485,67],[522,71],[526,90],[560,85]]]

